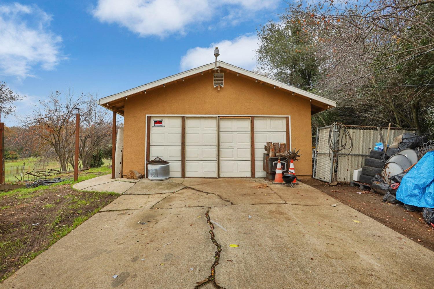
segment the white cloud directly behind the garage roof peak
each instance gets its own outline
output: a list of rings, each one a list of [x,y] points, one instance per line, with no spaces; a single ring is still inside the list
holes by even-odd
[[[218,47],[221,60],[233,65],[237,65],[247,70],[256,68],[255,50],[258,49],[258,37],[256,35],[244,35],[233,40],[222,40],[211,43],[208,47],[195,47],[188,49],[187,53],[181,58],[181,70],[195,68],[214,59],[214,48]]]

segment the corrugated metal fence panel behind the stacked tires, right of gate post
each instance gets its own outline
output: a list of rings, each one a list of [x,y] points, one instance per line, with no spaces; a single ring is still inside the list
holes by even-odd
[[[378,130],[348,130],[352,137],[352,151],[349,156],[339,157],[336,181],[350,182],[354,169],[363,166],[365,157],[369,155],[370,150],[375,146],[375,140],[379,139]],[[339,133],[342,136],[342,131]],[[342,137],[340,142],[342,145]],[[339,153],[345,155],[349,150],[344,149]]]

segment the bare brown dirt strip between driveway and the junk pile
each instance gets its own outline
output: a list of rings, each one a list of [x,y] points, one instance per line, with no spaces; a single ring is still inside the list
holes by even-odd
[[[382,195],[358,187],[329,186],[312,178],[302,178],[300,181],[434,251],[434,228],[424,222],[422,213],[407,211],[402,205],[384,203]]]

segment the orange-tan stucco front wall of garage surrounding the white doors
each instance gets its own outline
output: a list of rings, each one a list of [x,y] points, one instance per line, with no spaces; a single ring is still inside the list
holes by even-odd
[[[213,74],[204,73],[147,91],[125,101],[123,172],[145,172],[146,115],[241,114],[290,115],[291,143],[301,149],[296,175],[312,174],[312,133],[309,99],[225,73],[224,88],[213,87]]]

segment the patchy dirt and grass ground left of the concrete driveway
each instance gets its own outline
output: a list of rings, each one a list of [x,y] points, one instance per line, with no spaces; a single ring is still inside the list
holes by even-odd
[[[2,193],[0,281],[117,197],[77,191],[71,184]]]

